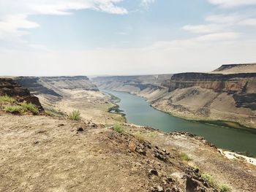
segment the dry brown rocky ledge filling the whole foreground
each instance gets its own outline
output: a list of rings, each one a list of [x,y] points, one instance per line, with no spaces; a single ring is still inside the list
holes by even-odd
[[[256,168],[203,139],[44,115],[0,115],[0,191],[254,191]],[[209,179],[210,178],[210,179]]]

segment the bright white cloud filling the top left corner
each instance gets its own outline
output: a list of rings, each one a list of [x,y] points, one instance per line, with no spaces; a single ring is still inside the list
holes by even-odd
[[[18,39],[28,34],[24,29],[39,27],[29,15],[70,15],[72,10],[94,9],[110,14],[127,14],[118,7],[122,0],[1,0],[0,39]]]

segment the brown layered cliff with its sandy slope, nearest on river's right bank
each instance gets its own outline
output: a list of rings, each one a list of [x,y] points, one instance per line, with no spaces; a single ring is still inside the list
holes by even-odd
[[[222,66],[218,70],[246,66]],[[181,73],[162,86],[168,93],[153,101],[154,107],[183,118],[230,120],[256,127],[256,73]]]

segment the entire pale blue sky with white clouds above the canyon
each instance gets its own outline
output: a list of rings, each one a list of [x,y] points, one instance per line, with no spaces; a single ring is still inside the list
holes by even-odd
[[[0,0],[0,75],[210,72],[256,62],[256,0]]]

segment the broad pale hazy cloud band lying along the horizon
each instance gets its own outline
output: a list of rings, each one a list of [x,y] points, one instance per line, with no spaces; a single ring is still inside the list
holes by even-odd
[[[255,40],[219,41],[221,36],[225,37],[225,34],[156,42],[144,48],[37,52],[1,50],[0,61],[4,67],[0,75],[208,72],[221,64],[256,61]]]

